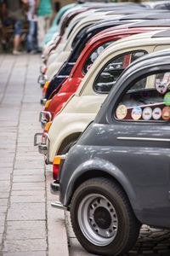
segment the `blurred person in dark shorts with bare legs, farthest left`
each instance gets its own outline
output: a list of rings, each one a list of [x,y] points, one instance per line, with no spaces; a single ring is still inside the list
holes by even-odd
[[[27,3],[27,0],[4,0],[3,3],[5,5],[3,26],[14,25],[13,54],[19,55],[20,34],[24,20],[23,4]]]

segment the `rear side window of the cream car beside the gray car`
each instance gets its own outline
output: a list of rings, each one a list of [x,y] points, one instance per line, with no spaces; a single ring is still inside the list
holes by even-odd
[[[94,90],[98,93],[108,93],[124,69],[145,54],[147,54],[146,51],[139,50],[116,56],[98,74],[94,81]]]

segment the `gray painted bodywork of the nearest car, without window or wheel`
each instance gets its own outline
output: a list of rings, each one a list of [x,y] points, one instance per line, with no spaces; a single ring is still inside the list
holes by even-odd
[[[59,174],[60,201],[65,207],[84,180],[108,177],[121,185],[142,224],[170,228],[169,120],[127,122],[113,116],[116,102],[129,84],[145,74],[170,72],[169,56],[169,50],[162,56],[158,52],[127,68],[94,123],[70,149]],[[132,137],[136,139],[132,141]]]

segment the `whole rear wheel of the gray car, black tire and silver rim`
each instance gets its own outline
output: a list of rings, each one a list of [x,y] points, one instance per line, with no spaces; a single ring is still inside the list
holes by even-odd
[[[122,255],[133,247],[140,223],[115,182],[96,177],[82,183],[71,200],[71,224],[89,253]]]

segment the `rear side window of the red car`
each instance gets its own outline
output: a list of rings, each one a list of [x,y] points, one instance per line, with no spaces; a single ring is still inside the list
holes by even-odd
[[[98,47],[96,47],[89,55],[86,61],[83,64],[82,67],[82,73],[85,75],[88,72],[88,69],[92,67],[94,64],[94,61],[99,57],[99,55],[104,51],[104,49],[109,46],[109,44],[115,42],[116,40],[112,40],[109,42],[106,42],[105,44],[100,44]]]

